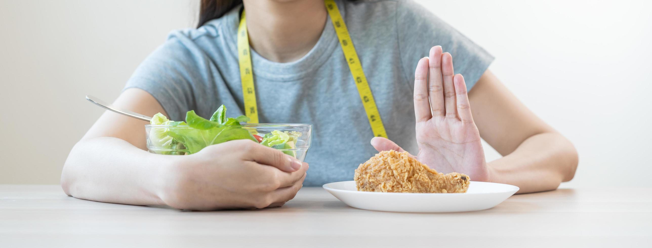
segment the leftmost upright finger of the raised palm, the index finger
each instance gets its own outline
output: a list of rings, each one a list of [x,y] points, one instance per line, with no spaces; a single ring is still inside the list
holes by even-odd
[[[428,102],[428,57],[422,57],[414,72],[414,114],[417,122],[432,117]]]

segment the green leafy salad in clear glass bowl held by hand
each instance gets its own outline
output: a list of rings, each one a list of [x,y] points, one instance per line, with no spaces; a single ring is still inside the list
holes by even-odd
[[[186,113],[185,121],[171,121],[158,113],[145,125],[147,149],[151,153],[188,155],[230,140],[252,140],[303,162],[310,148],[312,125],[241,124],[246,121],[249,117],[226,117],[224,105],[210,119],[198,116],[194,110]]]

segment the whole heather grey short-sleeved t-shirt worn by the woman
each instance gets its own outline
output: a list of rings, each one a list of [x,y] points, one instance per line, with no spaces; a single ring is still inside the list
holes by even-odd
[[[337,1],[376,99],[387,135],[411,153],[415,141],[414,70],[430,48],[450,52],[470,89],[493,57],[412,1]],[[173,120],[188,110],[210,117],[224,104],[243,114],[236,33],[239,10],[198,29],[173,31],[136,69],[126,88],[153,95]],[[331,20],[317,44],[290,63],[251,51],[260,123],[310,123],[312,147],[304,185],[353,179],[353,170],[376,154],[373,133]]]

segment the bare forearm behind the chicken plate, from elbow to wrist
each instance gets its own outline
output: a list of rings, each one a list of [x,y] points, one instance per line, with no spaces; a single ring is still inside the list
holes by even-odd
[[[490,181],[520,187],[518,193],[557,189],[575,174],[575,148],[561,134],[546,132],[527,138],[512,153],[488,164]]]

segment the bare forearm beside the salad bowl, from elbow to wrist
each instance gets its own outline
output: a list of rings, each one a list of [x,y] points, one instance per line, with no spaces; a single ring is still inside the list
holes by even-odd
[[[169,160],[113,137],[88,138],[70,151],[61,187],[70,196],[98,202],[162,205]]]

